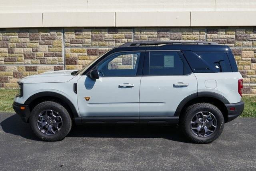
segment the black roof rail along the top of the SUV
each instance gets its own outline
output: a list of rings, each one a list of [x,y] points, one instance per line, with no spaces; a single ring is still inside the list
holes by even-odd
[[[147,42],[127,42],[119,47],[129,46],[163,46],[166,44],[196,44],[196,45],[218,45],[216,42],[206,41],[147,41]]]

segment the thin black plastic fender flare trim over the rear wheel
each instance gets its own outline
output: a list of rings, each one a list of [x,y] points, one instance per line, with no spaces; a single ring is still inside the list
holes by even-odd
[[[198,93],[193,93],[193,94],[187,96],[186,98],[184,98],[178,105],[178,107],[174,113],[174,116],[179,116],[180,112],[182,111],[182,109],[186,105],[186,103],[188,103],[190,100],[196,99],[198,97],[212,97],[212,98],[218,99],[219,101],[222,101],[222,103],[224,103],[224,104],[230,104],[229,101],[223,95],[220,95],[218,93],[214,93],[211,91],[201,91]]]

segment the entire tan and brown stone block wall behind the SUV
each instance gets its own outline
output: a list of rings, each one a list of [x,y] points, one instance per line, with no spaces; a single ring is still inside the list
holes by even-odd
[[[15,88],[17,80],[33,74],[79,70],[126,42],[167,40],[230,46],[244,77],[243,93],[256,95],[256,26],[0,29],[0,88]]]

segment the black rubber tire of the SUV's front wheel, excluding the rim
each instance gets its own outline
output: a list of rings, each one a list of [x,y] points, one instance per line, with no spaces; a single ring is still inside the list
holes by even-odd
[[[48,110],[48,109],[58,112],[58,114],[62,118],[62,127],[60,131],[58,131],[56,134],[53,134],[53,135],[46,135],[42,133],[37,126],[38,115],[42,111]],[[46,141],[58,141],[58,140],[64,139],[64,137],[66,137],[67,132],[70,131],[71,119],[68,114],[68,111],[62,105],[53,101],[45,101],[36,105],[36,107],[34,107],[34,109],[32,110],[30,115],[30,126],[32,127],[32,130],[34,131],[34,133],[41,139]]]

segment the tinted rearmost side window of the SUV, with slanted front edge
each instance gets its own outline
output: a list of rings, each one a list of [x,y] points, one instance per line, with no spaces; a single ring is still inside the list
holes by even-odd
[[[195,52],[207,62],[215,72],[232,72],[226,52]]]

